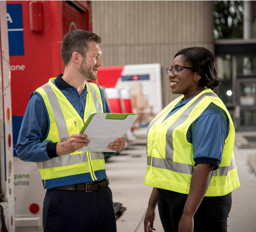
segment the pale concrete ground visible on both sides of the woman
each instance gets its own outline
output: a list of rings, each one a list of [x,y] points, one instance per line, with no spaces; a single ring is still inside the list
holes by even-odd
[[[232,209],[228,218],[228,232],[256,231],[256,176],[247,164],[247,156],[256,155],[256,149],[234,147],[241,187],[232,192]],[[146,146],[134,145],[120,155],[109,158],[107,176],[113,201],[127,208],[117,221],[118,232],[133,232],[147,208],[152,187],[143,184],[146,171]],[[157,232],[163,232],[158,210],[154,222]],[[137,232],[143,232],[143,222]]]

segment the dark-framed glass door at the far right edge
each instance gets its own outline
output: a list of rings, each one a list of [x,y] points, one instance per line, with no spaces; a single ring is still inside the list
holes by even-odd
[[[256,78],[237,79],[238,130],[256,129]]]

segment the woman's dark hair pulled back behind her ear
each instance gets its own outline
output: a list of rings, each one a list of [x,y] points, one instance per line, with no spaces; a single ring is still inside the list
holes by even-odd
[[[219,86],[217,62],[213,53],[208,49],[202,47],[184,48],[178,51],[174,58],[178,55],[183,56],[186,64],[193,68],[191,70],[193,73],[197,72],[201,76],[199,84],[202,87],[205,86],[215,90]]]

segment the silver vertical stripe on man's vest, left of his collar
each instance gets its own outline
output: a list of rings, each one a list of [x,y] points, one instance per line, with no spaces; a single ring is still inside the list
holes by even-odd
[[[59,133],[59,141],[64,142],[69,138],[69,132],[67,130],[67,124],[62,113],[61,106],[59,105],[58,98],[49,84],[43,85],[42,88],[46,92],[51,109],[53,110]]]

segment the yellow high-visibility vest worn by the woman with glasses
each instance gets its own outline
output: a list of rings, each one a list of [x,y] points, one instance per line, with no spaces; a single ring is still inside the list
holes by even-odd
[[[225,140],[221,164],[213,176],[205,196],[223,196],[240,186],[233,154],[235,129],[223,102],[206,89],[165,120],[184,96],[171,102],[153,119],[147,134],[147,169],[144,184],[189,194],[190,181],[196,168],[193,147],[186,139],[187,130],[213,102],[229,117],[229,135]]]

